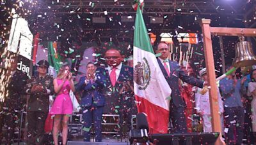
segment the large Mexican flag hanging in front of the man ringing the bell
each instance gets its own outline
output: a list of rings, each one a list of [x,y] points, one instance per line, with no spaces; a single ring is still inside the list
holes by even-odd
[[[134,93],[139,113],[145,113],[150,134],[166,134],[171,88],[157,63],[140,8],[134,31]]]

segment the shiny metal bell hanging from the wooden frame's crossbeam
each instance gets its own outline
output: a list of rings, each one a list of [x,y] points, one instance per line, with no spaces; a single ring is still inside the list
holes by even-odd
[[[252,45],[244,41],[244,36],[239,37],[240,42],[236,43],[236,55],[233,60],[234,67],[253,66],[256,64],[256,57],[253,54]]]

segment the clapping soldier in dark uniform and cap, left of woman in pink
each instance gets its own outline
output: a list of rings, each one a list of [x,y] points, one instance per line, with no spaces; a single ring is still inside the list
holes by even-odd
[[[38,62],[38,76],[28,79],[26,93],[30,95],[27,108],[28,144],[42,144],[44,124],[49,110],[49,95],[54,93],[53,79],[47,73],[49,63]]]

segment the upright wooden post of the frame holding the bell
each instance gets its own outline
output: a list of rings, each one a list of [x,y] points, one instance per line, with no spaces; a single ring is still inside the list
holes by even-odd
[[[208,82],[211,88],[209,89],[209,99],[211,106],[211,116],[212,116],[212,132],[220,132],[220,135],[215,144],[225,144],[221,141],[221,121],[219,114],[219,104],[218,104],[218,93],[216,84],[216,74],[214,67],[214,58],[212,52],[212,40],[211,40],[211,30],[210,30],[211,20],[202,20],[202,32],[204,38],[204,54],[205,54],[205,64],[207,68]]]

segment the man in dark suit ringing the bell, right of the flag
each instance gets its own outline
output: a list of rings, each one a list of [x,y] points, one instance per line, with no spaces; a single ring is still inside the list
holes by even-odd
[[[174,133],[185,133],[187,132],[186,118],[184,115],[186,104],[180,96],[179,78],[190,85],[198,86],[200,88],[207,85],[207,82],[196,79],[193,76],[188,76],[182,69],[180,69],[177,62],[169,60],[168,56],[170,55],[170,51],[166,43],[159,43],[156,53],[161,53],[161,56],[157,58],[157,62],[164,74],[164,78],[172,89],[170,119],[172,120]]]

